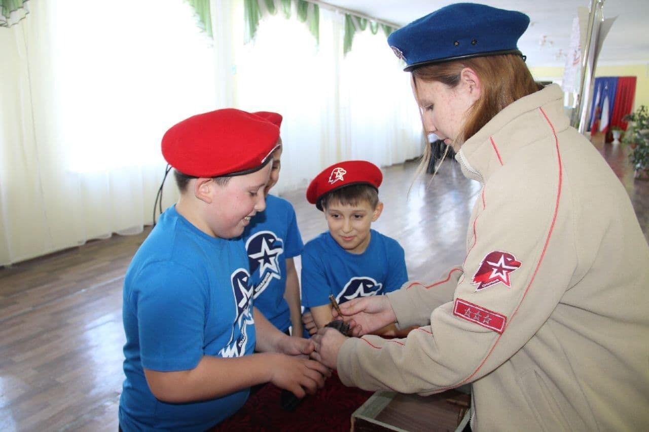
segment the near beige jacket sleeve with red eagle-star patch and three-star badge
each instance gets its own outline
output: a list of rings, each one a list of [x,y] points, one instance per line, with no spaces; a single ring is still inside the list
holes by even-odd
[[[512,170],[485,185],[453,301],[432,310],[430,326],[406,339],[367,335],[346,341],[337,357],[343,383],[367,390],[441,392],[489,374],[530,341],[576,267],[560,163],[535,162],[537,169],[528,164],[524,173]],[[533,181],[520,182],[521,175]],[[422,315],[424,301],[434,304],[428,296],[435,297],[435,291],[422,287],[389,294],[400,326],[409,323],[407,305],[410,313]]]

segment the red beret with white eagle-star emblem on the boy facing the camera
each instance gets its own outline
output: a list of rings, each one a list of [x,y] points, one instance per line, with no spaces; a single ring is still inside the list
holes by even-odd
[[[367,184],[378,191],[383,181],[381,170],[365,160],[347,160],[334,163],[318,174],[306,189],[306,200],[323,210],[320,198],[326,193],[352,184]]]

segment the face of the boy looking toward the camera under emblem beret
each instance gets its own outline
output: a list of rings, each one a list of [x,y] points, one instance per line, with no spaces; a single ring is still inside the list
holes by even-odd
[[[383,203],[376,208],[366,200],[358,204],[341,204],[339,201],[327,202],[324,217],[329,226],[329,232],[341,248],[352,254],[362,254],[370,241],[370,227],[383,210]]]

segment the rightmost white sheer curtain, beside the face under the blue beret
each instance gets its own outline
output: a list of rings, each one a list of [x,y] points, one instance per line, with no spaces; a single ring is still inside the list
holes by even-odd
[[[421,155],[420,114],[404,66],[387,47],[382,30],[354,35],[340,73],[346,158],[386,166]]]

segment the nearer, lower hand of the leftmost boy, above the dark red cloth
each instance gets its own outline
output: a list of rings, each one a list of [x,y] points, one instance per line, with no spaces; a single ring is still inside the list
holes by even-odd
[[[307,393],[315,394],[323,388],[324,378],[331,376],[331,371],[326,366],[303,355],[276,355],[271,383],[280,389],[289,390],[298,398],[304,398]]]

